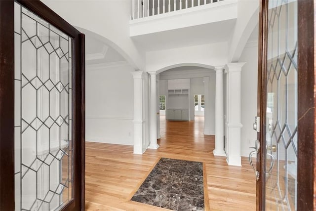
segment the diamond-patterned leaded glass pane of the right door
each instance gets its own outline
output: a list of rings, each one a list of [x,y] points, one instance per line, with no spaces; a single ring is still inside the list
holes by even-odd
[[[297,0],[269,1],[269,8],[267,122],[271,127],[267,127],[266,208],[294,211],[297,210]],[[269,171],[271,159],[275,164]]]

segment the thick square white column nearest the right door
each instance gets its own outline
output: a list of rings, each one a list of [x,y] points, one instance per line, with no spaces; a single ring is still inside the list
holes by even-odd
[[[226,134],[227,163],[232,166],[241,166],[240,130],[241,130],[241,68],[244,63],[230,63],[225,66],[227,73],[227,114]]]

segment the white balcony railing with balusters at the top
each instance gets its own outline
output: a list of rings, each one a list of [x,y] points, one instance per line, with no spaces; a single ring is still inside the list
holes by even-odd
[[[222,0],[132,0],[131,20],[174,12]]]

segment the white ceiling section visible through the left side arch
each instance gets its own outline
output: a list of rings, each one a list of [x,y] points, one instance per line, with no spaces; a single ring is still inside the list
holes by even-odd
[[[126,61],[118,51],[88,35],[85,36],[85,57],[86,64]]]

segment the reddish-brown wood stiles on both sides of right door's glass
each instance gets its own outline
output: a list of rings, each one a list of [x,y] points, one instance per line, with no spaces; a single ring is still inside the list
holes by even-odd
[[[266,65],[268,0],[260,1],[259,12],[259,52],[258,52],[258,113],[260,131],[266,131]],[[316,49],[315,49],[315,5],[314,0],[298,0],[298,189],[297,210],[316,209]],[[262,94],[264,92],[264,94]],[[265,210],[265,155],[266,134],[257,134],[260,153],[257,156],[257,211]]]

